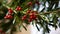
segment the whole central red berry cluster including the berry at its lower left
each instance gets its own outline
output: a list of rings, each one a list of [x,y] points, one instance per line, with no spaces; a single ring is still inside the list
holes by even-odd
[[[28,16],[27,16],[27,14],[28,14]],[[23,17],[22,17],[22,20],[26,20],[27,19],[27,17],[28,17],[28,22],[31,22],[32,20],[36,20],[37,19],[37,12],[34,12],[34,11],[31,11],[31,10],[28,10],[27,12],[26,12],[26,15],[24,15]]]

